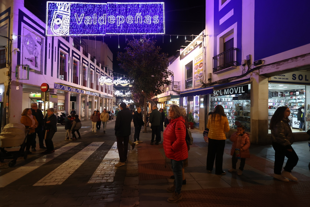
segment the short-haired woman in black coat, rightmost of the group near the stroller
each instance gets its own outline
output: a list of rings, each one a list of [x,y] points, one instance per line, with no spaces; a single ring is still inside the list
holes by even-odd
[[[57,117],[54,114],[54,109],[47,109],[47,116],[44,118],[44,139],[46,145],[46,151],[42,154],[51,154],[55,152],[52,138],[57,132]]]

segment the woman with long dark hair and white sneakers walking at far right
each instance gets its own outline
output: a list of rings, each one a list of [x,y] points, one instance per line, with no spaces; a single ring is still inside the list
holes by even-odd
[[[298,180],[291,174],[291,170],[298,162],[298,156],[292,147],[294,137],[289,125],[290,119],[287,118],[289,115],[290,109],[286,106],[281,106],[272,115],[269,125],[272,147],[275,151],[273,177],[284,182],[289,182],[288,179]],[[287,157],[287,162],[282,171],[285,157]]]

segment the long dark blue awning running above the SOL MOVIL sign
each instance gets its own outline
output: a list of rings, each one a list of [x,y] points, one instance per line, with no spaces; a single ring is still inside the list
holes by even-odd
[[[197,88],[197,89],[193,89],[193,90],[189,90],[189,91],[183,91],[180,92],[180,97],[188,97],[188,96],[204,96],[207,94],[213,94],[213,90],[218,90],[221,88],[227,88],[229,86],[234,86],[240,83],[247,83],[250,82],[250,79],[243,79],[243,80],[237,80],[237,81],[233,81],[233,82],[229,82],[229,83],[222,83],[219,85],[215,85],[212,87],[208,87],[208,88]]]

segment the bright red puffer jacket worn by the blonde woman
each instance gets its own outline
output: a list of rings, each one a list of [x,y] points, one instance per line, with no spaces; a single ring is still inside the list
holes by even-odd
[[[182,116],[176,119],[170,119],[163,137],[164,150],[167,158],[172,160],[185,160],[188,158],[188,150],[185,141],[186,128]]]

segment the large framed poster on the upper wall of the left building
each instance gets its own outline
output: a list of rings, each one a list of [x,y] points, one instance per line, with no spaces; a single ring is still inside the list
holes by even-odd
[[[41,71],[43,39],[30,30],[23,29],[22,64]]]

